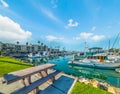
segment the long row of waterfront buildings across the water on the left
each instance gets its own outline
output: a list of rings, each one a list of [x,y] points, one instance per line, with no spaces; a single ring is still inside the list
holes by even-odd
[[[58,47],[48,47],[47,45],[41,44],[12,44],[12,43],[2,43],[0,42],[0,51],[4,52],[3,55],[8,56],[27,56],[28,54],[41,54],[41,55],[62,55],[65,51],[59,50]]]

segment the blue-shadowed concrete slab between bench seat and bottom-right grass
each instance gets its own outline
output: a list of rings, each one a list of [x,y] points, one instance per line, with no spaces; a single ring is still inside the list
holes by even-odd
[[[75,79],[73,78],[62,75],[45,90],[40,91],[40,94],[68,94],[68,91],[74,83],[74,80]]]

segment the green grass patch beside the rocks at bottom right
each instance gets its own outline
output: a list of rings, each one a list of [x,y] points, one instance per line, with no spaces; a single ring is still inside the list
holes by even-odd
[[[104,91],[99,88],[95,88],[91,85],[76,82],[75,86],[72,89],[71,94],[112,94],[112,93]]]

